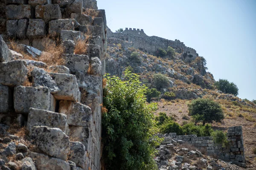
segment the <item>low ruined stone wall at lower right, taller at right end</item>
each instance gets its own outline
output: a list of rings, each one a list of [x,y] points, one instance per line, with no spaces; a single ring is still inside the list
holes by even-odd
[[[241,126],[229,127],[227,131],[228,144],[222,147],[220,144],[213,142],[212,136],[197,137],[196,135],[180,135],[176,133],[166,134],[162,144],[178,142],[180,144],[192,144],[200,150],[206,150],[209,155],[215,155],[218,159],[232,161],[240,167],[246,167],[244,157],[244,142]]]

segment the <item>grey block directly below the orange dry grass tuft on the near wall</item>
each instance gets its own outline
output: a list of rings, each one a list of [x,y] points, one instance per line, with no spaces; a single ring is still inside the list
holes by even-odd
[[[87,73],[89,68],[89,57],[87,55],[63,54],[62,57],[72,74],[77,71]]]

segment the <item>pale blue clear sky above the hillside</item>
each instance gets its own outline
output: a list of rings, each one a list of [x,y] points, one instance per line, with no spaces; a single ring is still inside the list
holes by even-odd
[[[207,59],[215,80],[256,99],[256,0],[97,0],[107,25],[180,40]]]

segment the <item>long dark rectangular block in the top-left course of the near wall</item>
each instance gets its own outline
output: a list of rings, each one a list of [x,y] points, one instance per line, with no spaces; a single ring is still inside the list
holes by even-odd
[[[7,20],[19,20],[23,18],[31,18],[30,5],[7,5],[6,6]]]

